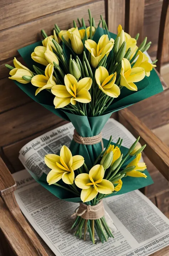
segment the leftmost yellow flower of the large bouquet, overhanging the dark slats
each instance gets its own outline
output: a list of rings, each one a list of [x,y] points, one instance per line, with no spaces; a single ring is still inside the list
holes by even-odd
[[[29,76],[31,80],[31,77],[33,76],[31,70],[22,65],[19,61],[16,60],[16,58],[14,58],[14,66],[15,68],[10,70],[9,72],[9,74],[11,75],[9,79],[16,80],[21,84],[28,84],[30,81],[24,80],[22,76]]]

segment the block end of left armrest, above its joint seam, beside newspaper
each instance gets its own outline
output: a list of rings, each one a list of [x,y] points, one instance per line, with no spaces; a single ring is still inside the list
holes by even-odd
[[[0,196],[4,197],[14,190],[16,190],[16,182],[0,157]]]

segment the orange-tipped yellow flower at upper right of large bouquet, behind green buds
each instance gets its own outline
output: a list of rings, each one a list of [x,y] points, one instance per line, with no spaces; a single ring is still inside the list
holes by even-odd
[[[138,46],[136,45],[137,41],[135,38],[132,38],[128,33],[124,32],[121,25],[118,26],[118,34],[123,35],[122,43],[124,41],[126,42],[126,52],[128,51],[129,48],[131,48],[131,54],[130,54],[130,60],[131,60],[138,49]],[[121,44],[119,44],[119,47],[121,46]]]

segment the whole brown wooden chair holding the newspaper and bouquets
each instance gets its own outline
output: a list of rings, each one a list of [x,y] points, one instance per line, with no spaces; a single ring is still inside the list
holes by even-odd
[[[0,16],[2,19],[0,22],[0,38],[2,40],[0,48],[0,155],[3,158],[3,160],[0,158],[0,243],[5,256],[47,256],[48,254],[37,235],[25,220],[16,203],[14,196],[16,182],[11,173],[23,169],[18,160],[18,152],[24,144],[40,134],[64,124],[65,121],[33,102],[9,81],[4,63],[11,64],[13,57],[17,55],[18,48],[37,41],[40,29],[43,28],[49,32],[56,22],[61,28],[67,28],[71,21],[78,16],[86,18],[87,8],[91,9],[97,21],[99,14],[103,13],[110,31],[116,33],[117,25],[120,23],[132,36],[139,32],[141,41],[143,39],[145,5],[144,0],[92,2],[91,0],[82,0],[81,5],[77,0],[56,0],[54,2],[49,0],[47,5],[44,0],[30,0],[24,2],[24,8],[22,8],[22,1],[12,2],[8,5],[3,4],[3,1],[0,3],[2,12]],[[53,5],[53,3],[55,4]],[[166,61],[166,52],[169,51],[168,44],[166,44],[169,40],[167,34],[168,5],[169,0],[163,0],[157,53],[158,71],[160,71],[162,58]],[[57,12],[53,13],[55,10]],[[19,16],[18,12],[20,12]],[[19,56],[18,60],[21,61]],[[157,127],[157,125],[155,126],[157,122],[158,127],[168,124],[166,105],[168,104],[169,90],[164,82],[163,86],[166,89],[163,93],[130,107],[131,111],[129,109],[121,110],[113,117],[125,125],[135,137],[140,135],[140,142],[147,144],[144,150],[145,155],[165,179],[169,180],[169,148],[150,130]],[[147,191],[144,192],[147,193]],[[153,256],[167,255],[169,255],[169,247],[153,253]]]

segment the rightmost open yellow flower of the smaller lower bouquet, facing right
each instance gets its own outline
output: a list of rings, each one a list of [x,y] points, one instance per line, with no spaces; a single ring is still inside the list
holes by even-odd
[[[133,161],[131,161],[127,166],[126,168],[130,167],[130,166],[135,166],[134,170],[133,171],[129,171],[129,172],[126,172],[127,176],[130,176],[130,177],[144,177],[144,178],[147,178],[147,176],[142,173],[141,171],[144,171],[147,166],[145,165],[145,163],[140,163],[140,158],[142,156],[142,153],[139,153]]]

